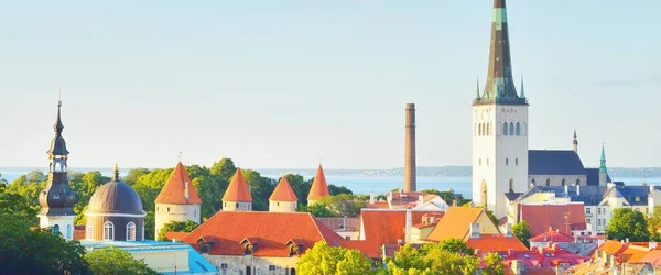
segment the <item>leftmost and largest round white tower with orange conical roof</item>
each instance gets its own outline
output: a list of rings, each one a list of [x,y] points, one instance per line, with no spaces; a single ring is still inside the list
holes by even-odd
[[[154,202],[156,205],[154,215],[156,240],[159,240],[159,231],[167,222],[192,220],[199,223],[202,199],[199,199],[182,162],[176,164]]]

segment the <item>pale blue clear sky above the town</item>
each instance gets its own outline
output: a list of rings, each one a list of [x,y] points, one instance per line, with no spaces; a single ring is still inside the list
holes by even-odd
[[[0,1],[0,167],[47,167],[58,89],[69,167],[470,164],[489,0]],[[530,148],[661,166],[661,1],[509,0]]]

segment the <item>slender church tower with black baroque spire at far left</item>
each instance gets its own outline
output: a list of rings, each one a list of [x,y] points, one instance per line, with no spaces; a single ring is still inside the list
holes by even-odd
[[[48,150],[48,183],[39,194],[39,204],[42,209],[37,217],[40,228],[51,228],[53,233],[61,233],[66,240],[74,238],[74,205],[76,204],[76,194],[68,186],[67,160],[68,150],[66,142],[62,136],[64,124],[61,119],[62,101],[57,102],[57,121],[53,129],[55,138],[51,141]]]

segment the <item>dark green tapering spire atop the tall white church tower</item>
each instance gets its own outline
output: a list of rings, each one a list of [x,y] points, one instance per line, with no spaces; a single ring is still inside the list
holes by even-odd
[[[505,0],[494,0],[487,81],[480,100],[475,103],[525,105],[525,99],[519,97],[514,87],[509,43]]]

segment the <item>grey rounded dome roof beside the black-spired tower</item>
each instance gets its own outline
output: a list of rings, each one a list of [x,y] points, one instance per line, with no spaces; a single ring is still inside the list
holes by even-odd
[[[142,215],[140,196],[129,185],[117,178],[99,187],[87,205],[85,215]]]

